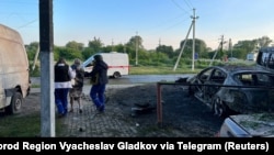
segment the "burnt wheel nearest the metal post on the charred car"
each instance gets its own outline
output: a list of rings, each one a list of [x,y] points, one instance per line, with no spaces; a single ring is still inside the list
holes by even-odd
[[[227,113],[226,104],[219,97],[213,98],[212,110],[214,114],[217,117],[224,117]]]

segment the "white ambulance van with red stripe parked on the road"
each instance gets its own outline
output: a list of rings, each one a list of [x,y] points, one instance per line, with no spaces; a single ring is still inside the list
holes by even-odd
[[[103,60],[109,65],[107,76],[113,78],[118,78],[129,73],[129,59],[128,54],[126,53],[96,53],[82,63],[82,67],[84,67],[85,73],[90,73],[92,70],[92,60],[95,55],[102,55]]]

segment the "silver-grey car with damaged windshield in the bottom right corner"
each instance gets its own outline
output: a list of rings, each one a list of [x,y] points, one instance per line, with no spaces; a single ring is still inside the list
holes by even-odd
[[[274,113],[230,115],[225,119],[217,137],[274,137]]]

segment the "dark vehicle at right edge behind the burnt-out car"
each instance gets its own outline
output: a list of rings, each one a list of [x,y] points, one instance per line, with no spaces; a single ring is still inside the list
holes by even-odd
[[[274,73],[274,47],[263,47],[259,49],[256,67]]]

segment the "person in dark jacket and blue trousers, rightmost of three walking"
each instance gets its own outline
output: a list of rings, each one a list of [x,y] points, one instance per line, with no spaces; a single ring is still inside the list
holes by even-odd
[[[96,110],[103,112],[105,108],[104,92],[106,84],[109,82],[109,77],[107,77],[109,66],[103,60],[102,55],[94,56],[93,65],[94,66],[92,68],[92,71],[89,74],[91,79],[94,80],[90,89],[90,97],[93,103],[95,104]]]

